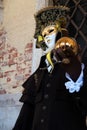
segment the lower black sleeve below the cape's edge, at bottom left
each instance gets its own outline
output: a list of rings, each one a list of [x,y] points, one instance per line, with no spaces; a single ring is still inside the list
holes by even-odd
[[[34,115],[34,105],[24,103],[13,130],[31,130]]]

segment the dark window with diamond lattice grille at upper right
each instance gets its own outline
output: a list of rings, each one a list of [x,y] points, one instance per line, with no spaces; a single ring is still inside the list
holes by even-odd
[[[87,0],[49,0],[49,5],[65,5],[70,8],[67,28],[69,36],[74,37],[84,47],[87,44]]]

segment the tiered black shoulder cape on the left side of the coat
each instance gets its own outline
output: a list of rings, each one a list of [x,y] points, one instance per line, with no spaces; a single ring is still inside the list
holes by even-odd
[[[45,56],[41,58],[37,70],[22,85],[24,87],[24,91],[20,99],[21,102],[30,103],[30,104],[35,103],[36,93],[39,90],[40,83],[44,74],[44,71],[40,70],[40,68],[43,68],[45,64],[44,60],[45,60]]]

